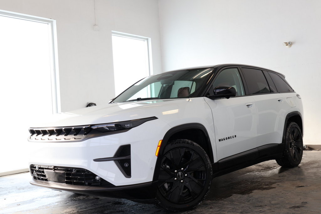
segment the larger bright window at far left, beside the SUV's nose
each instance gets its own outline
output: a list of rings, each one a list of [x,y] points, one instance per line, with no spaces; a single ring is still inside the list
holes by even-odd
[[[53,24],[47,19],[0,11],[0,129],[4,133],[0,173],[29,168],[31,123],[59,111]]]

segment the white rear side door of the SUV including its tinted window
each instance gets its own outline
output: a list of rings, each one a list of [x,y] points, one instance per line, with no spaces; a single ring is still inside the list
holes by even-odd
[[[242,67],[248,94],[252,95],[257,109],[256,147],[282,142],[284,109],[287,103],[277,92],[268,72]]]

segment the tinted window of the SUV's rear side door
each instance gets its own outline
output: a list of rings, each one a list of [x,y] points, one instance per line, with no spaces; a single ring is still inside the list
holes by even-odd
[[[249,94],[270,93],[269,85],[261,70],[242,68]]]

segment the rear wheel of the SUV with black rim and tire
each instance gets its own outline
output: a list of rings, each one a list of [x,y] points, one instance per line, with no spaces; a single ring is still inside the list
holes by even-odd
[[[300,164],[303,155],[303,139],[300,127],[291,122],[285,133],[282,157],[276,159],[281,167],[296,167]]]

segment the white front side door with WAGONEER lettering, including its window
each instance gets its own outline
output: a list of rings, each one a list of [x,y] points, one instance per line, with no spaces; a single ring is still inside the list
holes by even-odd
[[[217,160],[256,147],[257,114],[252,96],[244,96],[244,86],[238,68],[222,70],[213,82],[216,86],[232,86],[237,95],[212,100],[205,98],[212,109]]]

